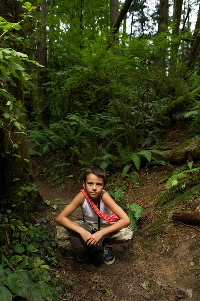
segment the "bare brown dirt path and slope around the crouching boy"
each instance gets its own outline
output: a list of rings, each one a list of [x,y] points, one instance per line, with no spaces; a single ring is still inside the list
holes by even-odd
[[[129,187],[126,193],[128,203],[139,204],[145,215],[128,250],[123,246],[114,247],[116,261],[113,265],[104,264],[102,246],[95,249],[87,262],[79,263],[69,241],[57,242],[59,280],[66,287],[61,300],[200,300],[200,227],[194,226],[195,229],[168,221],[155,202],[166,185],[162,180],[171,169],[155,167],[148,173],[142,169],[139,172],[140,186],[136,189]],[[68,204],[82,186],[81,182],[69,178],[63,183],[66,188],[59,193],[60,185],[51,186],[41,179],[37,183],[42,197],[53,204],[60,201]],[[56,218],[64,207],[58,205],[58,209],[48,208],[43,213],[49,217],[48,230],[55,234]],[[80,217],[78,209],[71,220]],[[66,284],[65,278],[72,280],[73,285]],[[145,285],[146,281],[151,286]]]

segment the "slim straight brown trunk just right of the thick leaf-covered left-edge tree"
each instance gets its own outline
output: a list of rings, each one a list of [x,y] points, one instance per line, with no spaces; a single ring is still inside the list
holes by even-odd
[[[40,124],[49,126],[50,124],[50,101],[45,87],[47,83],[47,48],[46,48],[46,0],[40,4],[39,15],[43,24],[39,29],[38,43],[37,43],[37,61],[44,66],[39,67],[38,72],[38,119]]]

